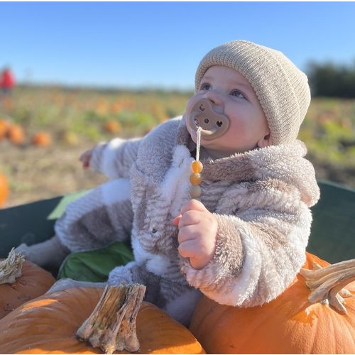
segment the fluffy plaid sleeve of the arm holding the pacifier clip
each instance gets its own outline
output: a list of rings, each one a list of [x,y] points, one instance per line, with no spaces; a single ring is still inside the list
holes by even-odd
[[[215,214],[217,244],[207,266],[196,270],[182,259],[187,282],[223,305],[253,307],[273,300],[305,262],[312,215],[297,193],[260,192],[258,199],[244,196],[248,204],[233,215]]]

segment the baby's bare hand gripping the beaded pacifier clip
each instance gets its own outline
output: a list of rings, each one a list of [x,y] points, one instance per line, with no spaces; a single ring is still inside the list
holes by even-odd
[[[218,222],[214,214],[201,202],[190,200],[173,223],[179,227],[180,255],[190,258],[192,268],[204,268],[216,249]]]

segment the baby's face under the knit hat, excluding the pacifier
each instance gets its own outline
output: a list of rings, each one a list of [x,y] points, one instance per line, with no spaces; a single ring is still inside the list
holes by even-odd
[[[201,137],[201,145],[212,158],[243,153],[271,143],[263,109],[251,84],[241,73],[222,65],[209,67],[199,91],[187,103],[186,121],[200,99],[209,99],[214,111],[224,113],[230,121],[229,129],[223,136],[212,140]],[[187,130],[196,142],[196,131],[189,124]]]

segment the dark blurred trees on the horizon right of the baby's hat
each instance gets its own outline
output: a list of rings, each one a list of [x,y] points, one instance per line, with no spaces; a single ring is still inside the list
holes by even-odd
[[[312,97],[355,98],[355,62],[354,65],[310,62],[307,76]]]

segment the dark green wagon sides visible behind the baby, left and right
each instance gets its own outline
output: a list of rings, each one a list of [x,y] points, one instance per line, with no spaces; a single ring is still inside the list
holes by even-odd
[[[313,223],[307,251],[330,263],[354,258],[355,190],[325,181],[320,181],[319,185],[321,197],[320,202],[312,208]],[[13,246],[21,243],[35,244],[53,236],[55,220],[69,202],[83,193],[1,209],[0,257],[6,257]],[[131,254],[126,249],[124,253],[129,261]],[[111,264],[108,264],[107,268],[110,267]],[[104,277],[94,277],[94,280],[102,280]]]

